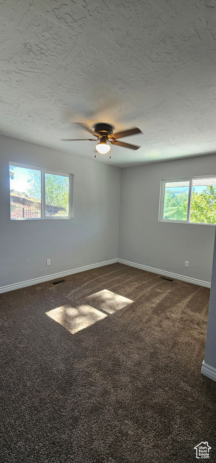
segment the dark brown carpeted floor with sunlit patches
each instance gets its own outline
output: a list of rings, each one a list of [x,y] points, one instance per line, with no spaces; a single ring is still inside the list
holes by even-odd
[[[0,295],[1,462],[216,461],[208,288],[119,263]]]

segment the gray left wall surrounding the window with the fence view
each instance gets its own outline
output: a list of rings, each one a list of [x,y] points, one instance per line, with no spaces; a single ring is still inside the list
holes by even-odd
[[[9,161],[74,174],[74,219],[10,220]],[[0,136],[0,286],[117,258],[120,187],[121,169],[94,155]]]

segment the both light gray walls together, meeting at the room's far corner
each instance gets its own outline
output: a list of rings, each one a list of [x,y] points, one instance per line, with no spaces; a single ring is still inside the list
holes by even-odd
[[[11,221],[9,161],[73,173],[74,219]],[[158,210],[162,178],[211,174],[216,155],[119,169],[0,136],[0,286],[117,258],[117,252],[210,282],[215,226],[158,222]]]

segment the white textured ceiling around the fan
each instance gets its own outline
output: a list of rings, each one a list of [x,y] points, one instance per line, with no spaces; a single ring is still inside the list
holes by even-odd
[[[94,159],[74,123],[143,134],[120,167],[216,152],[216,0],[0,2],[0,133]]]

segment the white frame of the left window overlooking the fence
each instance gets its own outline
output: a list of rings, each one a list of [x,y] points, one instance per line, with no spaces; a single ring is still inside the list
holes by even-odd
[[[35,167],[35,166],[29,166],[26,164],[20,164],[20,163],[12,163],[9,162],[9,166],[14,166],[14,167],[22,167],[24,169],[35,169],[35,170],[40,170],[41,171],[41,217],[36,217],[36,218],[28,218],[28,217],[20,217],[20,218],[14,218],[11,220],[59,220],[59,219],[74,219],[74,174],[68,174],[66,172],[59,172],[57,170],[49,170],[49,169],[43,169],[41,167]],[[54,175],[62,175],[64,177],[69,178],[69,211],[68,211],[68,216],[45,216],[45,191],[44,191],[44,185],[45,185],[45,174],[54,174]],[[9,175],[9,185],[10,185],[10,175]],[[10,204],[10,188],[9,188],[9,204]]]

